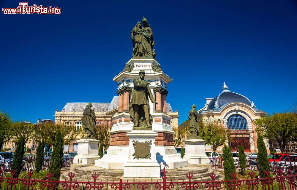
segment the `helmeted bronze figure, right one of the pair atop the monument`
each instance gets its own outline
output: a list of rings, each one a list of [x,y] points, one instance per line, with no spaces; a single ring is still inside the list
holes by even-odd
[[[153,31],[145,17],[142,18],[143,28],[143,57],[152,57],[152,49],[155,45]]]

